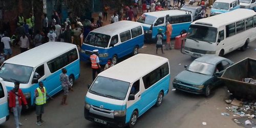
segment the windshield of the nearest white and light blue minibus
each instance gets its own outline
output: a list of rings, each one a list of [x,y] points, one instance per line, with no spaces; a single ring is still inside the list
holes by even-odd
[[[130,83],[98,76],[89,92],[113,99],[124,100]]]

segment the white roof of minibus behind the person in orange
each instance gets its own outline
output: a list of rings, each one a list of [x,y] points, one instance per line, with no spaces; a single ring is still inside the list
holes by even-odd
[[[150,16],[155,16],[155,17],[163,17],[166,15],[170,15],[170,16],[184,15],[184,14],[188,14],[188,12],[184,11],[184,10],[166,10],[166,11],[147,12],[144,14],[150,15]]]

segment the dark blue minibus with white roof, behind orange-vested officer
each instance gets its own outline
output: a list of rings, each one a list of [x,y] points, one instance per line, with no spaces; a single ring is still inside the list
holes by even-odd
[[[99,50],[99,64],[112,64],[126,55],[136,55],[144,44],[144,32],[141,23],[119,21],[95,29],[89,33],[81,46],[81,60],[90,61],[94,49]]]

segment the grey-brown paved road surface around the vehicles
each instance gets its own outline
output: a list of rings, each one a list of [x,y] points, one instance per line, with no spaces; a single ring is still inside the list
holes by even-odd
[[[139,52],[155,55],[155,44],[145,44]],[[183,55],[176,49],[165,51],[164,55],[158,55],[169,59],[172,81],[174,76],[184,69],[184,65],[193,61],[190,56]],[[251,42],[245,52],[236,50],[225,57],[233,62],[246,57],[256,58],[256,41]],[[88,90],[87,84],[92,82],[91,74],[90,65],[81,62],[81,76],[75,82],[74,92],[69,93],[68,105],[60,105],[62,92],[55,95],[45,107],[46,113],[42,118],[46,122],[40,127],[101,127],[83,117],[84,96]],[[173,86],[170,83],[170,90],[172,89]],[[147,111],[139,118],[135,127],[239,127],[232,121],[232,116],[221,115],[222,112],[227,112],[224,101],[227,97],[226,87],[217,88],[208,98],[202,95],[169,91],[164,97],[162,106],[153,107]],[[38,127],[35,124],[35,111],[30,110],[22,114],[21,122],[24,124],[22,127]],[[207,125],[202,125],[202,122],[206,122]],[[10,120],[0,127],[14,127],[13,116],[11,115]]]

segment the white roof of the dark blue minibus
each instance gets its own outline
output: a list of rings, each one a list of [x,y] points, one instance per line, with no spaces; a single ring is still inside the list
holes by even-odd
[[[91,32],[114,36],[116,34],[122,33],[126,30],[130,30],[130,29],[133,29],[133,28],[139,27],[139,26],[141,26],[141,23],[139,23],[139,22],[122,20],[122,21],[118,21],[115,23],[105,25],[105,26],[95,29]]]

